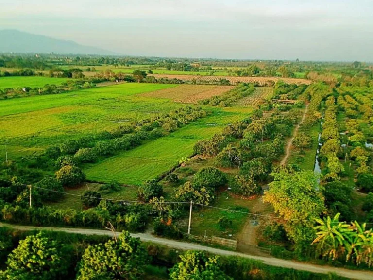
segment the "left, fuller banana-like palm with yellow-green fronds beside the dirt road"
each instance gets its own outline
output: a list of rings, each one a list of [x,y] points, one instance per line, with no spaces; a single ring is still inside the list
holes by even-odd
[[[312,242],[312,245],[319,243],[323,252],[322,255],[328,255],[333,260],[338,258],[339,254],[348,247],[347,238],[353,231],[348,224],[339,222],[339,216],[340,213],[337,213],[333,219],[330,219],[329,216],[323,219],[316,219],[319,226],[314,227],[317,231],[317,237]]]

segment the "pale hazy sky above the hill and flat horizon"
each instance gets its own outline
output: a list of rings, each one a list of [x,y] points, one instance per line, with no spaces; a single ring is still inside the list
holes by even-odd
[[[373,62],[372,0],[0,0],[0,29],[126,55]]]

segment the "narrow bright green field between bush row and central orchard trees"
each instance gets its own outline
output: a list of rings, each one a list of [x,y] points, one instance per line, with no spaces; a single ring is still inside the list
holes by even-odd
[[[182,157],[191,156],[197,140],[211,138],[221,132],[226,124],[243,119],[250,112],[246,108],[214,108],[206,118],[188,124],[167,137],[124,151],[97,164],[87,164],[85,173],[92,181],[117,180],[123,184],[140,185],[145,180],[169,171]]]

